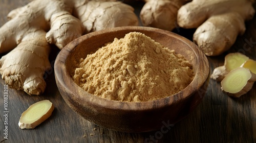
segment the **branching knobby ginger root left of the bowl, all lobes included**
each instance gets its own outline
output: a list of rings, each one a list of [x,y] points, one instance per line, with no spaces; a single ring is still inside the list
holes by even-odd
[[[0,74],[11,88],[30,95],[44,92],[43,76],[51,68],[49,43],[61,49],[82,35],[82,24],[71,12],[62,1],[46,0],[9,13],[10,20],[0,28],[0,52],[13,50],[0,59]]]

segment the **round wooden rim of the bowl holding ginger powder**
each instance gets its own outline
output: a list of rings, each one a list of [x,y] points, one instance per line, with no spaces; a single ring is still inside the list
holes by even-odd
[[[190,49],[194,53],[200,54],[200,55],[195,54],[196,55],[195,58],[197,58],[197,62],[199,62],[199,60],[203,60],[203,65],[198,66],[198,68],[196,69],[197,73],[195,74],[193,81],[191,81],[187,87],[185,87],[180,92],[173,94],[171,96],[168,96],[166,98],[161,98],[161,99],[153,100],[153,101],[145,101],[145,102],[121,102],[121,101],[114,101],[114,100],[109,100],[109,99],[104,99],[104,98],[94,96],[93,94],[90,94],[87,91],[83,90],[81,87],[79,87],[73,81],[73,79],[71,78],[70,73],[66,67],[66,60],[67,60],[70,52],[75,50],[77,45],[81,41],[85,40],[85,39],[83,39],[85,36],[86,36],[86,39],[88,39],[88,38],[91,38],[98,34],[117,32],[120,30],[131,30],[131,31],[155,30],[158,33],[170,35],[174,38],[178,38],[180,41],[189,45]],[[193,46],[195,48],[192,48],[191,46]],[[202,58],[202,59],[199,59],[199,58]],[[143,111],[145,111],[145,110],[152,110],[152,108],[156,108],[156,107],[164,108],[164,107],[172,105],[173,103],[182,102],[183,100],[185,100],[185,99],[189,98],[190,96],[192,96],[193,94],[195,94],[199,90],[199,88],[202,85],[204,85],[205,81],[207,80],[207,78],[209,76],[209,74],[200,75],[199,71],[204,70],[204,72],[209,73],[209,63],[208,63],[208,60],[207,60],[205,54],[199,49],[199,47],[195,43],[193,43],[192,41],[188,40],[187,38],[185,38],[181,35],[178,35],[176,33],[170,32],[170,31],[158,29],[158,28],[127,26],[127,27],[116,27],[116,28],[109,28],[109,29],[105,29],[105,30],[101,30],[101,31],[91,32],[91,33],[88,33],[86,35],[83,35],[83,36],[73,40],[72,42],[67,44],[65,47],[63,47],[63,49],[58,53],[56,60],[55,60],[55,64],[54,64],[54,70],[55,70],[54,73],[55,73],[55,79],[56,79],[58,88],[59,88],[59,86],[65,87],[65,89],[66,89],[65,92],[69,95],[70,94],[74,95],[74,93],[80,93],[80,94],[77,94],[77,96],[72,96],[72,97],[69,96],[68,97],[69,100],[73,100],[77,104],[90,104],[92,106],[109,108],[109,109],[114,109],[114,110],[130,110],[130,111],[143,110]],[[62,77],[67,77],[68,80],[66,78],[62,78]],[[196,82],[200,82],[200,84],[195,84]],[[67,84],[65,84],[65,83],[70,84],[73,88],[68,87]],[[184,91],[186,91],[188,89],[193,89],[193,90],[190,90],[191,92],[189,92],[189,94],[187,92],[184,93]],[[81,94],[83,94],[83,95],[81,95]],[[184,96],[183,98],[179,98],[181,96],[181,94]],[[63,97],[65,95],[61,94],[61,96]],[[66,97],[63,97],[63,98],[65,99]],[[203,98],[203,96],[200,98]],[[77,101],[81,101],[81,102],[78,103]],[[108,106],[104,106],[105,103],[108,103]],[[109,103],[111,103],[111,104],[109,104]],[[120,107],[122,107],[122,108],[120,108]],[[140,107],[140,108],[138,108],[138,107]]]

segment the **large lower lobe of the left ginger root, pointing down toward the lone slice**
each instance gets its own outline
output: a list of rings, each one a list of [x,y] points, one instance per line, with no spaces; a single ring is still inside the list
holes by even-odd
[[[0,59],[0,74],[11,88],[29,95],[45,91],[45,71],[51,68],[48,60],[50,45],[46,32],[37,30],[27,34],[17,47]]]

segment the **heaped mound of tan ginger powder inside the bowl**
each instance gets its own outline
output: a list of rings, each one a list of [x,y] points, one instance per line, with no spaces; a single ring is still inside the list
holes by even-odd
[[[145,102],[184,89],[194,79],[192,65],[150,37],[131,32],[80,59],[74,82],[95,96]]]

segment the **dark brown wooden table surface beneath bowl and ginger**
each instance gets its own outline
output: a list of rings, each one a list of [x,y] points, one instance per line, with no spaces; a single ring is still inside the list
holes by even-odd
[[[0,26],[7,21],[6,15],[10,10],[28,2],[0,0]],[[137,13],[142,5],[134,5]],[[237,38],[231,50],[217,57],[208,57],[211,72],[223,65],[227,53],[242,52],[256,60],[256,16],[246,26],[247,31]],[[174,30],[188,39],[191,39],[194,31],[179,27]],[[50,55],[52,66],[57,53],[58,49],[53,47]],[[46,74],[46,82],[46,91],[40,96],[29,96],[23,91],[8,89],[8,139],[5,139],[5,82],[0,79],[1,142],[256,142],[256,84],[247,94],[235,99],[223,93],[218,82],[210,80],[201,104],[184,120],[169,128],[167,133],[124,133],[94,125],[74,112],[62,99],[53,70]],[[35,129],[19,129],[20,115],[31,104],[45,99],[55,105],[52,116]]]

